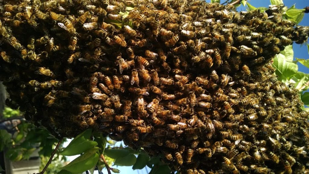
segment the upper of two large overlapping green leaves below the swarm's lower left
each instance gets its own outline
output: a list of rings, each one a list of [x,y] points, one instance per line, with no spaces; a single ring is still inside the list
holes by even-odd
[[[65,156],[79,155],[98,145],[97,142],[89,140],[91,131],[91,129],[87,129],[76,136],[59,154]]]

